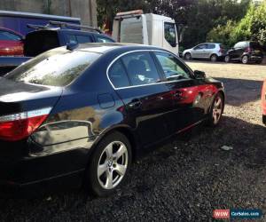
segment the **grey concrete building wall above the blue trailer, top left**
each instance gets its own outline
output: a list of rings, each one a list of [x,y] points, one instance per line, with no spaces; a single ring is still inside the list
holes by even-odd
[[[97,27],[96,0],[1,0],[0,10],[79,17],[82,24]]]

